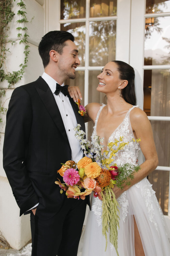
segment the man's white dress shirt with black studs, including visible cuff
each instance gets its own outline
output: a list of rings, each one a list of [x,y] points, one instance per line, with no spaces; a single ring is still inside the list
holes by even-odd
[[[55,81],[52,77],[50,77],[48,74],[44,72],[42,75],[42,78],[46,81],[46,83],[48,84],[49,88],[51,89],[54,95],[54,98],[56,100],[57,106],[59,108],[59,111],[64,123],[64,127],[66,129],[67,137],[71,147],[71,159],[67,159],[67,160],[73,160],[75,163],[77,163],[83,157],[83,151],[81,149],[79,141],[74,136],[75,131],[73,129],[77,125],[77,120],[76,120],[74,111],[72,109],[70,100],[67,96],[64,96],[62,92],[60,92],[58,95],[54,94],[56,90],[57,81]],[[64,86],[64,83],[61,84],[61,86]],[[78,111],[79,110],[77,107],[77,112]],[[31,209],[35,208],[38,204],[39,203],[34,205]]]

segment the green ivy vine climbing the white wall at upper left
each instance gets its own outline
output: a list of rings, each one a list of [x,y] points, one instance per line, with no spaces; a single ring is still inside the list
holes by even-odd
[[[6,54],[10,52],[10,49],[7,48],[7,43],[11,43],[13,45],[16,43],[14,40],[8,40],[8,31],[9,31],[9,23],[12,21],[15,13],[12,11],[12,6],[16,0],[0,0],[0,81],[3,82],[4,80],[8,81],[8,88],[11,86],[14,86],[19,80],[21,80],[23,73],[25,72],[25,68],[27,67],[28,62],[28,55],[29,55],[29,45],[28,45],[28,37],[27,34],[28,28],[25,26],[28,23],[27,17],[26,17],[26,6],[24,4],[23,0],[20,0],[20,2],[17,3],[17,6],[19,6],[19,10],[17,12],[17,15],[19,16],[19,19],[17,20],[18,27],[18,39],[19,44],[23,43],[25,45],[24,48],[24,62],[20,64],[20,69],[18,71],[12,71],[8,72],[6,68]],[[5,96],[7,89],[1,89],[0,88],[0,114],[4,114],[4,112],[7,110],[3,107],[2,104],[2,97]],[[2,118],[0,118],[0,122],[2,122]]]

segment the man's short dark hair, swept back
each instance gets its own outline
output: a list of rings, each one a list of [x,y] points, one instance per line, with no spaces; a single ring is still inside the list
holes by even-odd
[[[55,50],[61,55],[63,47],[67,45],[67,40],[74,42],[74,36],[71,33],[62,30],[50,31],[42,37],[38,46],[38,51],[42,58],[44,68],[48,65],[50,60],[49,52]]]

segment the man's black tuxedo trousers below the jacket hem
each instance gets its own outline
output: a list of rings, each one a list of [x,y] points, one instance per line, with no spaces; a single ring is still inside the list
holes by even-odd
[[[31,213],[31,256],[76,256],[86,205],[86,199],[64,197],[60,210],[49,219]]]

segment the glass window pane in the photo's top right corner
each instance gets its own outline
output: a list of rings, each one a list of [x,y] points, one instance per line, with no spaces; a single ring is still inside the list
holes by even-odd
[[[146,0],[146,13],[166,13],[170,12],[170,1],[166,0]]]

